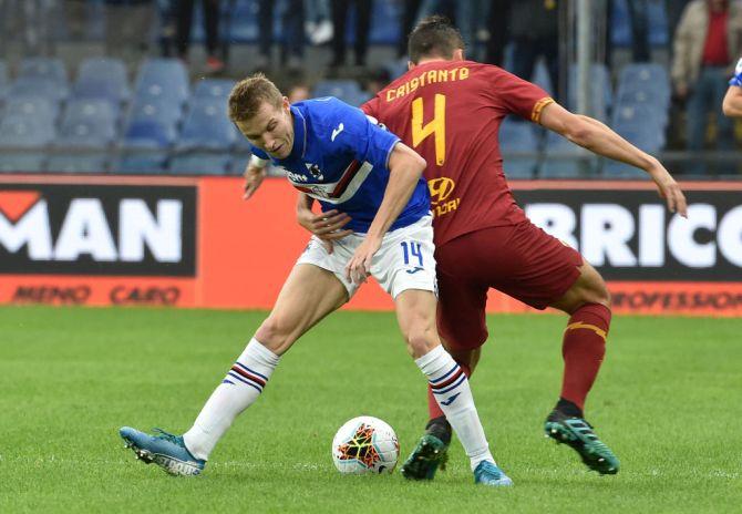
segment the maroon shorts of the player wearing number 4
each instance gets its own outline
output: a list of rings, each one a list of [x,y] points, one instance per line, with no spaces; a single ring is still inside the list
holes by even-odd
[[[437,326],[453,349],[487,339],[487,289],[545,309],[579,277],[583,257],[530,222],[458,236],[435,249]]]

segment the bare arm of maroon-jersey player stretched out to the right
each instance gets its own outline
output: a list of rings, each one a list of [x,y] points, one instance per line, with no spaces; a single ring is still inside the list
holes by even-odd
[[[686,196],[664,166],[605,124],[589,116],[570,113],[557,103],[544,107],[540,124],[592,153],[643,169],[657,184],[660,196],[667,201],[668,208],[672,213],[687,216]]]

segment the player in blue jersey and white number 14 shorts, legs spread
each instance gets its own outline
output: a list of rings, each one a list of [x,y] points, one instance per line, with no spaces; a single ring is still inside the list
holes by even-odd
[[[316,235],[297,260],[268,318],[182,436],[122,428],[137,456],[173,474],[195,475],[237,415],[255,402],[280,357],[302,333],[349,301],[373,276],[392,296],[400,329],[458,435],[474,480],[511,485],[489,452],[466,374],[435,329],[435,260],[425,161],[359,109],[337,99],[290,105],[261,74],[239,82],[229,116],[254,146],[246,196],[268,162],[318,201],[328,216],[350,216],[326,246]]]

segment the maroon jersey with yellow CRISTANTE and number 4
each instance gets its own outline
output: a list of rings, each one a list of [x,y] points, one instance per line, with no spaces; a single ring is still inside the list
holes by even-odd
[[[473,61],[414,68],[361,109],[425,161],[435,244],[526,219],[505,175],[497,133],[511,113],[538,123],[554,102],[540,88]]]

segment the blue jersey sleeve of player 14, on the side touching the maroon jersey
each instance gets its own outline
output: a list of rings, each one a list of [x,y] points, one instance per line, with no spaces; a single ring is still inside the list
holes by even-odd
[[[400,138],[380,126],[360,109],[338,101],[334,110],[336,120],[332,124],[332,144],[343,152],[350,152],[354,158],[367,161],[374,167],[387,167],[389,156]],[[342,124],[342,131],[340,128]]]

